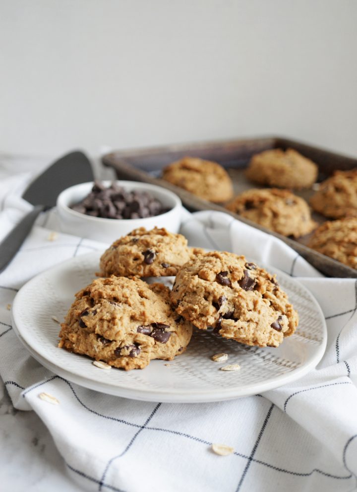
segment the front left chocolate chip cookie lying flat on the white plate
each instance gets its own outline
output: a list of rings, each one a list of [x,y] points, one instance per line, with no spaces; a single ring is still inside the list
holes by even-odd
[[[192,327],[169,298],[161,283],[97,279],[76,294],[59,347],[125,370],[142,369],[151,359],[172,360],[185,350]]]

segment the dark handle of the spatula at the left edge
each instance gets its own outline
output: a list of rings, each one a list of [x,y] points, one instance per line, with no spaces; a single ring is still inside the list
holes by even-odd
[[[7,267],[12,258],[16,255],[21,244],[26,239],[28,233],[40,212],[44,210],[43,205],[36,205],[24,218],[5,236],[0,243],[0,273]]]

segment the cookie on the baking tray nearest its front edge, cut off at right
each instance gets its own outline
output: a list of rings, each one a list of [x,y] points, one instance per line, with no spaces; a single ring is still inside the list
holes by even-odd
[[[315,230],[308,246],[357,269],[357,217],[323,223]]]

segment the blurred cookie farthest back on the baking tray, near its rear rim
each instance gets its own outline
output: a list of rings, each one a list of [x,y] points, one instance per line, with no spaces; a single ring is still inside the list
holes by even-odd
[[[310,188],[316,181],[317,165],[296,150],[265,150],[251,158],[246,176],[255,183],[279,188]]]

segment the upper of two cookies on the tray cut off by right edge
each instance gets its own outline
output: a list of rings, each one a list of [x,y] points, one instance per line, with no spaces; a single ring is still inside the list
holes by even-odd
[[[320,184],[310,205],[326,217],[357,216],[357,169],[336,171]]]

